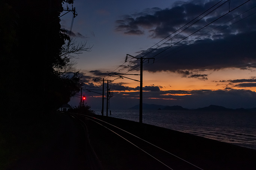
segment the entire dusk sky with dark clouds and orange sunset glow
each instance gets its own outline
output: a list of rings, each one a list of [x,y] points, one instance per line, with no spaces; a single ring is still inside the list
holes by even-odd
[[[73,7],[78,15],[70,35],[92,47],[73,59],[84,88],[95,90],[83,91],[92,110],[102,101],[102,81],[95,78],[109,80],[110,110],[139,104],[134,80],[140,76],[113,73],[140,74],[140,57],[143,103],[256,107],[256,1],[75,0]],[[63,29],[70,31],[72,17],[61,17]],[[135,58],[125,62],[127,54]],[[79,101],[72,97],[69,104]]]

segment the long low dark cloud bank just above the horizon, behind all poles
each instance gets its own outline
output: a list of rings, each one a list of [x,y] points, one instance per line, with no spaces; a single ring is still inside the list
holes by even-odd
[[[102,89],[102,86],[89,83],[85,84],[85,88]],[[139,87],[129,88],[121,84],[111,83],[110,88],[110,91],[119,91],[113,92],[113,97],[110,100],[112,109],[130,108],[139,104]],[[87,91],[85,95],[87,97],[86,101],[92,106],[92,109],[101,108],[101,104],[99,104],[102,100],[101,94]],[[79,103],[78,99],[75,104]],[[143,91],[143,103],[168,106],[179,105],[185,108],[206,107],[211,104],[227,108],[253,108],[256,107],[256,92],[232,88],[215,91],[209,89]]]

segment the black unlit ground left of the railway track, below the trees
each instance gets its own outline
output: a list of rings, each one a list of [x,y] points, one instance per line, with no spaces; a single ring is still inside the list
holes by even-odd
[[[54,113],[53,117],[54,121],[49,125],[51,129],[45,127],[47,134],[41,139],[43,143],[35,144],[37,146],[33,151],[23,151],[6,169],[101,170],[101,164],[88,144],[83,127],[69,114]],[[36,141],[34,138],[31,136],[31,140]]]

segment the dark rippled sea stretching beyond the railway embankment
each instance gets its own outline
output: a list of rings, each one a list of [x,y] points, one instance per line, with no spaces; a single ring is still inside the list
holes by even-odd
[[[139,110],[111,110],[108,116],[139,122]],[[142,122],[256,150],[256,113],[143,110]]]

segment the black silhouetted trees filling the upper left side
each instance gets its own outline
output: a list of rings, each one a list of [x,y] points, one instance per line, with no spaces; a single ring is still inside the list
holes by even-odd
[[[80,79],[61,76],[68,35],[61,32],[62,3],[73,0],[0,0],[2,116],[54,110],[79,91]]]

